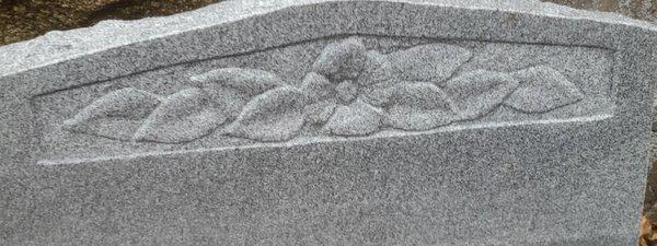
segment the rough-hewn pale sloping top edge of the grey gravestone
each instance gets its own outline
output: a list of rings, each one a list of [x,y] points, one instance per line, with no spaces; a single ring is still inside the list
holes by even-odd
[[[576,10],[538,0],[227,0],[194,11],[136,21],[102,21],[94,26],[53,31],[31,40],[0,46],[0,77],[77,57],[230,23],[291,7],[325,2],[400,2],[472,10],[492,10],[622,24],[657,32],[644,21],[621,14]]]

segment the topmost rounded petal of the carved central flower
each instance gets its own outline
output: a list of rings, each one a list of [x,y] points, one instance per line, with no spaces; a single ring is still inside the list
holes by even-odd
[[[331,81],[355,80],[366,62],[366,48],[358,37],[328,44],[312,66],[312,71]]]

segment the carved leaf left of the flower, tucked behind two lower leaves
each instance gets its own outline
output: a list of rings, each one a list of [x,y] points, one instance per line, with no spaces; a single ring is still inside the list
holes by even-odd
[[[229,119],[235,118],[253,96],[286,85],[274,73],[241,68],[217,69],[192,77],[191,80],[195,86],[208,93]]]

